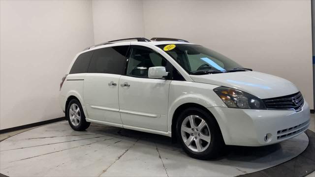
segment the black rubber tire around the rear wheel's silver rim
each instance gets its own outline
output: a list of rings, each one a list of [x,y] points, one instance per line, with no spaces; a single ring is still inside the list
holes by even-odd
[[[70,107],[71,105],[77,105],[80,109],[80,121],[78,122],[78,125],[74,125],[71,120],[70,120]],[[85,119],[85,115],[84,115],[84,112],[83,112],[83,109],[82,109],[82,106],[80,104],[80,102],[77,100],[77,99],[72,99],[69,101],[67,107],[66,107],[66,110],[65,110],[65,118],[68,120],[69,122],[69,125],[71,126],[71,128],[75,131],[83,131],[83,130],[86,130],[91,122],[87,122],[86,119]]]

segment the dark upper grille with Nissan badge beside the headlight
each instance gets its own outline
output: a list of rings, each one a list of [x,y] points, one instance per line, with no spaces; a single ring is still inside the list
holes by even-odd
[[[295,110],[300,111],[304,99],[301,92],[297,92],[287,96],[263,99],[267,109]]]

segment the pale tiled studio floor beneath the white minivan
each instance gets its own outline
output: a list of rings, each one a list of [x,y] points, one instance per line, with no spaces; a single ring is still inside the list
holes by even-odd
[[[309,127],[312,131],[315,131],[314,120],[312,114]],[[315,153],[312,153],[315,137],[310,130],[280,144],[226,146],[218,159],[196,160],[168,137],[93,123],[86,131],[77,132],[67,121],[61,121],[1,134],[0,174],[314,177],[314,172],[307,172],[315,166]]]

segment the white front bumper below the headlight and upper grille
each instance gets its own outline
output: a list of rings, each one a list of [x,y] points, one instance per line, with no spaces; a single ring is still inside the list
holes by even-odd
[[[224,107],[208,110],[217,119],[226,145],[271,145],[303,133],[310,124],[310,107],[306,101],[299,112]]]

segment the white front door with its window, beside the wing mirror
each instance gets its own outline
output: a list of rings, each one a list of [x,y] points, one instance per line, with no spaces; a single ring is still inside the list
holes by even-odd
[[[150,79],[148,69],[167,60],[143,46],[131,46],[126,75],[119,80],[119,106],[124,125],[167,131],[171,80]]]

